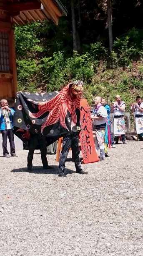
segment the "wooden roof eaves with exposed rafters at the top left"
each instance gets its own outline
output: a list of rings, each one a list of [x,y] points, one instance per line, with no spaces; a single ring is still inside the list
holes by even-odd
[[[17,25],[50,19],[58,25],[59,17],[67,15],[59,0],[0,0],[0,9],[10,13]]]

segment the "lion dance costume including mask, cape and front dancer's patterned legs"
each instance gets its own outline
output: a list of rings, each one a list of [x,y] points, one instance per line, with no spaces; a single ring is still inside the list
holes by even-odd
[[[78,133],[80,130],[80,97],[83,82],[74,81],[59,93],[29,93],[19,91],[15,99],[14,133],[20,139],[30,139],[30,133],[46,136],[47,146],[63,137],[63,150],[59,159],[63,177],[65,161],[72,148],[75,168],[82,173],[79,162]]]

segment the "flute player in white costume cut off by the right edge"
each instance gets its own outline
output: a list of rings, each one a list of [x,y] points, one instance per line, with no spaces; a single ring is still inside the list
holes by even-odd
[[[143,138],[143,102],[140,96],[137,96],[136,103],[131,105],[131,111],[135,115],[135,127],[138,137]]]

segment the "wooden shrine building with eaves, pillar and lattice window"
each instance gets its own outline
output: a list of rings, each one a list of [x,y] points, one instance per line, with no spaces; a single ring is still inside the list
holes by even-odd
[[[0,0],[0,99],[13,106],[17,91],[15,25],[53,20],[67,11],[59,0]]]

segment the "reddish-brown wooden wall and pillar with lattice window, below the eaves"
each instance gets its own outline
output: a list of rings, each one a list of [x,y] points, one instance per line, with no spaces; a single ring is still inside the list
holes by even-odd
[[[0,10],[0,99],[6,98],[14,106],[17,91],[13,18]]]

